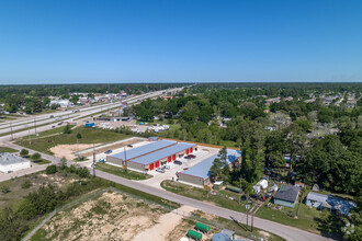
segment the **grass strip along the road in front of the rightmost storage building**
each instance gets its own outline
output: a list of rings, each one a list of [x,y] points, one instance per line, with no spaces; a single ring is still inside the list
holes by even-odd
[[[231,193],[228,191],[219,191],[218,195],[210,194],[207,197],[207,191],[194,186],[190,186],[186,184],[172,182],[172,181],[163,181],[161,183],[161,187],[182,196],[186,196],[197,200],[207,200],[216,204],[217,206],[225,207],[236,211],[246,211],[246,202],[238,203],[239,195],[236,193]],[[230,197],[233,199],[230,199]]]

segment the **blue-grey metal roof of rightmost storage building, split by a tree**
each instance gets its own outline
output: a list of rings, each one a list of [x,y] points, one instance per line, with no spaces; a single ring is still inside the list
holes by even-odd
[[[227,149],[227,164],[234,162],[236,159],[241,157],[241,151]],[[214,160],[218,158],[218,153],[214,154],[211,158],[207,158],[195,164],[194,167],[188,169],[186,171],[182,172],[183,174],[193,175],[197,177],[202,177],[204,180],[210,177],[210,169],[214,163]]]

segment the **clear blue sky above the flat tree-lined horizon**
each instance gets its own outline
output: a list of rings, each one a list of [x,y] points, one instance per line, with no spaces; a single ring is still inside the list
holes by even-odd
[[[0,0],[0,83],[362,81],[362,1]]]

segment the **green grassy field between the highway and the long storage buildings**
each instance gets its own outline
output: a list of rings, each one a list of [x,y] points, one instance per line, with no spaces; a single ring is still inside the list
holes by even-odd
[[[49,151],[49,148],[52,147],[55,147],[57,145],[77,144],[78,133],[81,135],[81,139],[79,139],[79,144],[106,144],[106,142],[112,142],[132,137],[125,134],[118,134],[118,133],[113,133],[110,130],[102,130],[97,128],[86,128],[81,126],[81,127],[77,127],[76,129],[72,129],[70,134],[60,134],[57,136],[34,139],[32,140],[32,145],[29,144],[29,140],[26,138],[19,139],[15,142],[25,148],[53,154]]]

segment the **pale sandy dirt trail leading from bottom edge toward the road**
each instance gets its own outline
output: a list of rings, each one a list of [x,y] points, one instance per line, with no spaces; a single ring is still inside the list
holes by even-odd
[[[149,229],[139,232],[133,241],[144,241],[144,240],[167,240],[169,233],[181,222],[183,216],[190,216],[190,213],[194,208],[190,206],[182,206],[172,213],[162,215],[158,220],[157,225]],[[177,213],[177,214],[176,214]]]

